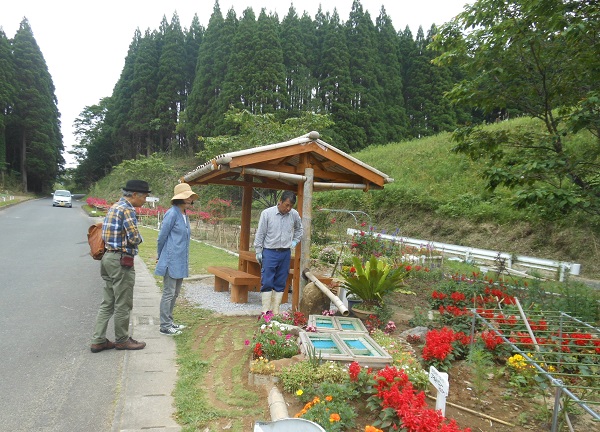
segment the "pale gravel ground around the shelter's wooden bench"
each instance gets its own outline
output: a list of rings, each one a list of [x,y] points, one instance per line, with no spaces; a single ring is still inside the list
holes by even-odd
[[[232,303],[229,292],[214,291],[214,277],[197,276],[183,281],[183,297],[199,308],[209,309],[223,315],[260,315],[262,305],[258,292],[248,293],[248,303]],[[282,303],[281,312],[292,307],[291,296],[288,303]]]

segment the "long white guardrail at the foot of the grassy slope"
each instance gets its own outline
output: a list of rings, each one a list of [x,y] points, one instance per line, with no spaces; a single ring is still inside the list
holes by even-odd
[[[349,235],[360,234],[364,230],[357,230],[348,228],[346,231]],[[429,240],[420,240],[409,237],[397,237],[388,234],[368,234],[376,235],[384,240],[390,240],[397,243],[402,243],[409,246],[414,246],[423,249],[435,250],[442,254],[450,254],[454,256],[462,257],[465,261],[496,261],[498,258],[505,261],[507,268],[512,269],[513,265],[519,265],[521,267],[535,268],[540,270],[546,270],[551,272],[559,271],[559,280],[561,282],[565,279],[565,272],[568,270],[569,274],[577,276],[581,271],[581,264],[570,263],[564,261],[555,261],[545,258],[534,258],[525,255],[512,255],[506,252],[492,251],[486,249],[473,248],[468,246],[458,246],[448,243],[439,243]]]

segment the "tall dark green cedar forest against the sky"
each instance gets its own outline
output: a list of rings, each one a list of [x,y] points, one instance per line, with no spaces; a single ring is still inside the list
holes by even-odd
[[[359,1],[346,22],[337,12],[319,11],[312,19],[293,8],[281,22],[264,10],[256,17],[246,9],[238,18],[233,9],[224,15],[216,2],[207,27],[196,16],[182,29],[175,13],[158,30],[137,30],[113,94],[76,120],[77,180],[88,186],[125,159],[192,155],[202,149],[199,137],[235,135],[225,117],[230,107],[280,121],[327,114],[333,125],[321,132],[344,151],[470,120],[469,111],[442,98],[458,72],[431,64],[435,53],[426,46],[435,27],[427,35],[419,28],[415,38],[408,27],[397,32],[383,9],[375,21]],[[29,190],[48,190],[64,164],[60,120],[27,20],[12,40],[0,31],[0,76],[0,102],[7,107],[0,111],[6,137],[0,166],[26,169]]]

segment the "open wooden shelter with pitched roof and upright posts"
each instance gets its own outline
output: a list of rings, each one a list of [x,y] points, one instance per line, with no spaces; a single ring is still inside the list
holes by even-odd
[[[190,185],[221,184],[243,188],[238,270],[249,271],[250,220],[254,188],[291,190],[302,217],[304,235],[295,253],[292,310],[300,304],[301,270],[310,256],[313,191],[333,189],[383,189],[392,178],[319,139],[310,132],[290,141],[240,150],[214,157],[181,177]],[[296,250],[298,252],[298,249]]]

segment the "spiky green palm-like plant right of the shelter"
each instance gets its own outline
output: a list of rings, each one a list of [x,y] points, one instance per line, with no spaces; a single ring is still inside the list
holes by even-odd
[[[375,256],[364,265],[358,257],[352,257],[352,263],[356,272],[344,275],[343,286],[360,298],[365,308],[380,306],[383,296],[399,288],[404,280],[402,271]]]

